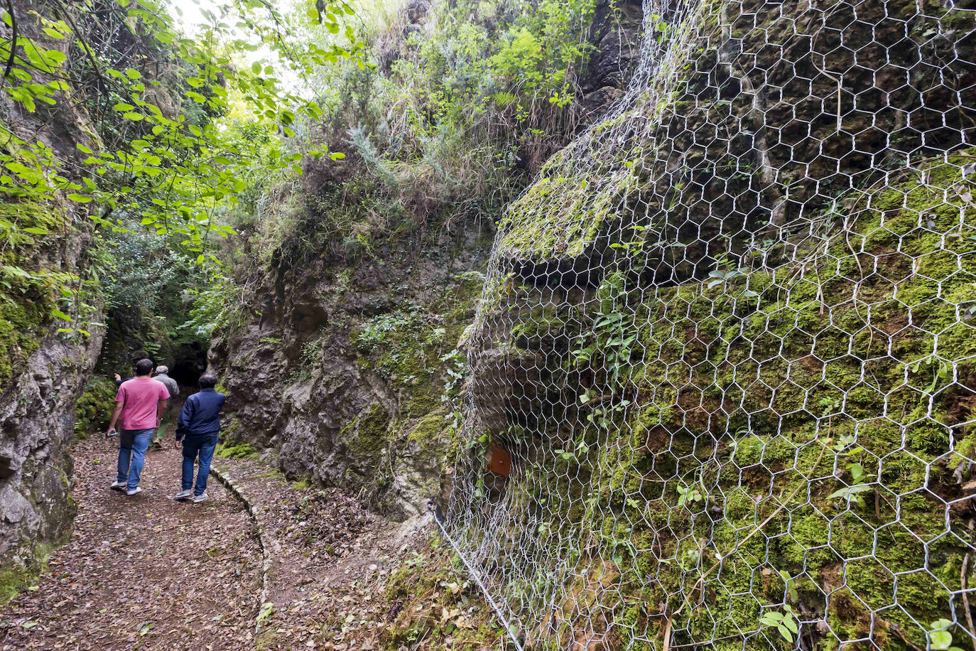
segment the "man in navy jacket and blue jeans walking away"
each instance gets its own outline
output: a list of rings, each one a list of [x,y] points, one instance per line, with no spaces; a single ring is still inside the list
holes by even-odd
[[[207,475],[221,434],[221,409],[226,399],[224,393],[214,389],[216,386],[217,376],[204,373],[200,376],[200,390],[183,403],[177,423],[177,447],[183,447],[183,490],[176,494],[177,500],[188,500],[192,496],[195,504],[207,499]],[[200,466],[194,488],[193,462],[197,456]]]

